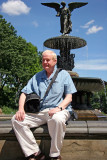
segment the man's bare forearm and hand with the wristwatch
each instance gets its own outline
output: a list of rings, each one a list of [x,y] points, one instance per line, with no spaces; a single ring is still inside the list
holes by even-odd
[[[56,112],[61,111],[60,107],[62,108],[62,110],[64,110],[71,102],[72,102],[72,94],[67,94],[58,107],[49,110],[48,112],[49,116],[53,116]]]

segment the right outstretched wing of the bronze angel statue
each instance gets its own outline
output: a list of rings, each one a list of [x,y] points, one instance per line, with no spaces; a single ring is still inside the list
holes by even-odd
[[[69,6],[69,10],[72,12],[74,9],[80,8],[80,7],[85,6],[87,4],[88,4],[87,2],[86,3],[84,3],[84,2],[71,2],[68,4],[68,6]]]

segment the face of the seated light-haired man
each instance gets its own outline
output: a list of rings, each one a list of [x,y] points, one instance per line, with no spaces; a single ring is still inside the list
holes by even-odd
[[[42,66],[47,72],[51,72],[56,65],[57,60],[53,59],[53,55],[49,53],[45,53],[42,56]]]

